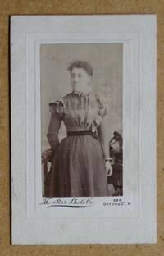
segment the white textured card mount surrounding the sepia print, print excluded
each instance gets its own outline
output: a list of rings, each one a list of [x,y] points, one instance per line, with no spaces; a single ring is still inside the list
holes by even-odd
[[[83,209],[41,201],[40,45],[74,42],[124,45],[121,206],[110,197]],[[11,16],[12,243],[155,243],[155,104],[156,16]]]

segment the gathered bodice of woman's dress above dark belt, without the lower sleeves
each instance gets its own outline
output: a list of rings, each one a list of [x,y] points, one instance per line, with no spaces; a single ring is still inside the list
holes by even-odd
[[[72,92],[50,103],[50,111],[62,118],[67,131],[97,129],[106,114],[103,98],[95,94]]]

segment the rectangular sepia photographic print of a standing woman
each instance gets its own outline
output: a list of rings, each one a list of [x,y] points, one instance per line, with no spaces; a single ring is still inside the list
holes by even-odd
[[[123,194],[123,43],[40,45],[43,197]]]

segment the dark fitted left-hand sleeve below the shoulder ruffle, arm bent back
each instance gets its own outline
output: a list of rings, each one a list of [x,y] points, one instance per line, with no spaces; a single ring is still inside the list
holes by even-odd
[[[55,150],[57,149],[57,145],[59,144],[58,131],[62,123],[62,117],[58,115],[55,108],[55,104],[50,105],[51,117],[47,134],[48,142],[52,148],[52,153],[55,152]]]

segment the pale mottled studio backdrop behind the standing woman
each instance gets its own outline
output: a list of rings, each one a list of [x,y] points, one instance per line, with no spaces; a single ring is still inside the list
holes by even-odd
[[[107,98],[107,135],[122,133],[122,43],[44,44],[40,48],[42,152],[48,149],[48,103],[71,92],[69,64],[87,61],[93,66],[92,88]],[[66,136],[64,126],[60,139]]]

